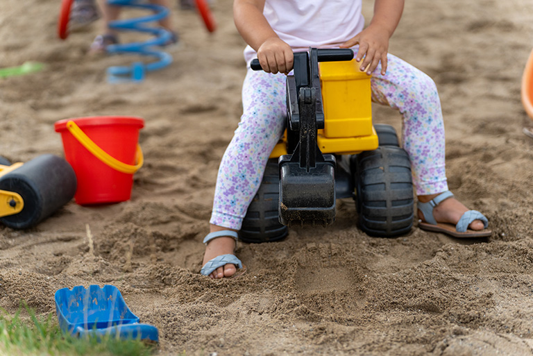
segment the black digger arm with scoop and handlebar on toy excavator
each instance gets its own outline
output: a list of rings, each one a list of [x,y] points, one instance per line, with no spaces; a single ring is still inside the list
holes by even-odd
[[[281,155],[279,219],[326,226],[335,221],[335,156],[316,144],[324,128],[319,62],[352,60],[351,49],[310,49],[294,53],[294,75],[287,76],[287,155]],[[253,60],[251,68],[261,69]],[[291,144],[292,142],[292,144]]]

